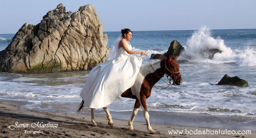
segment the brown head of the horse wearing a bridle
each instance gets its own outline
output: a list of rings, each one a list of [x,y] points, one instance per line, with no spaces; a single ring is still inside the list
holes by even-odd
[[[178,56],[176,57],[172,57],[169,55],[167,56],[165,60],[165,64],[166,64],[165,73],[168,76],[171,76],[174,84],[180,85],[182,83],[182,78],[180,73],[180,65],[176,62],[177,58]]]

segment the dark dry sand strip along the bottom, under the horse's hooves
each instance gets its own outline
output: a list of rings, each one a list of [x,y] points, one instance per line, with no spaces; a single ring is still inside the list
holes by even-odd
[[[114,128],[107,125],[106,118],[96,117],[97,127],[90,120],[84,114],[39,112],[0,101],[0,138],[256,138],[256,132],[238,134],[237,130],[151,124],[157,131],[153,135],[147,131],[145,122],[134,122],[135,130],[129,131],[125,120],[114,119]],[[178,131],[183,132],[174,134]]]

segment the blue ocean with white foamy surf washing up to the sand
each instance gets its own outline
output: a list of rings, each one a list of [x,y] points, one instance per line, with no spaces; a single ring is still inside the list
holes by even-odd
[[[104,33],[109,38],[108,46],[120,34]],[[14,35],[0,34],[0,50]],[[200,30],[133,31],[130,42],[134,51],[151,56],[167,52],[173,40],[185,48],[177,60],[183,82],[164,90],[152,88],[147,99],[150,122],[256,132],[256,29],[210,30],[203,26]],[[213,48],[222,52],[209,59],[204,51]],[[145,56],[143,64],[148,64]],[[89,72],[2,72],[0,100],[31,110],[75,113]],[[217,85],[225,74],[248,81],[249,87]],[[160,80],[155,86],[166,85]],[[121,98],[108,109],[113,118],[129,120],[134,103],[133,99]],[[90,109],[84,108],[81,114],[90,114]],[[104,111],[97,109],[96,116],[104,117]],[[135,121],[145,122],[141,110]]]

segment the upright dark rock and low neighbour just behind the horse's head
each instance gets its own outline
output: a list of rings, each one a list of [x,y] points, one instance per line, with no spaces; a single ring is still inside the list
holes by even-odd
[[[162,54],[151,54],[152,59],[164,59],[164,57],[168,54],[170,56],[179,56],[180,53],[184,50],[184,47],[176,40],[173,40],[170,44],[170,47],[168,48],[168,51],[162,55]]]

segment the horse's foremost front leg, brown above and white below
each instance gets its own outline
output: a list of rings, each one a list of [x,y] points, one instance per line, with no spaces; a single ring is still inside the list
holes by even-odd
[[[145,94],[141,94],[140,103],[141,103],[141,109],[144,113],[144,117],[146,119],[147,123],[147,130],[150,131],[151,134],[156,134],[156,131],[154,131],[150,126],[150,115],[147,112],[147,103],[146,103],[146,96]]]

